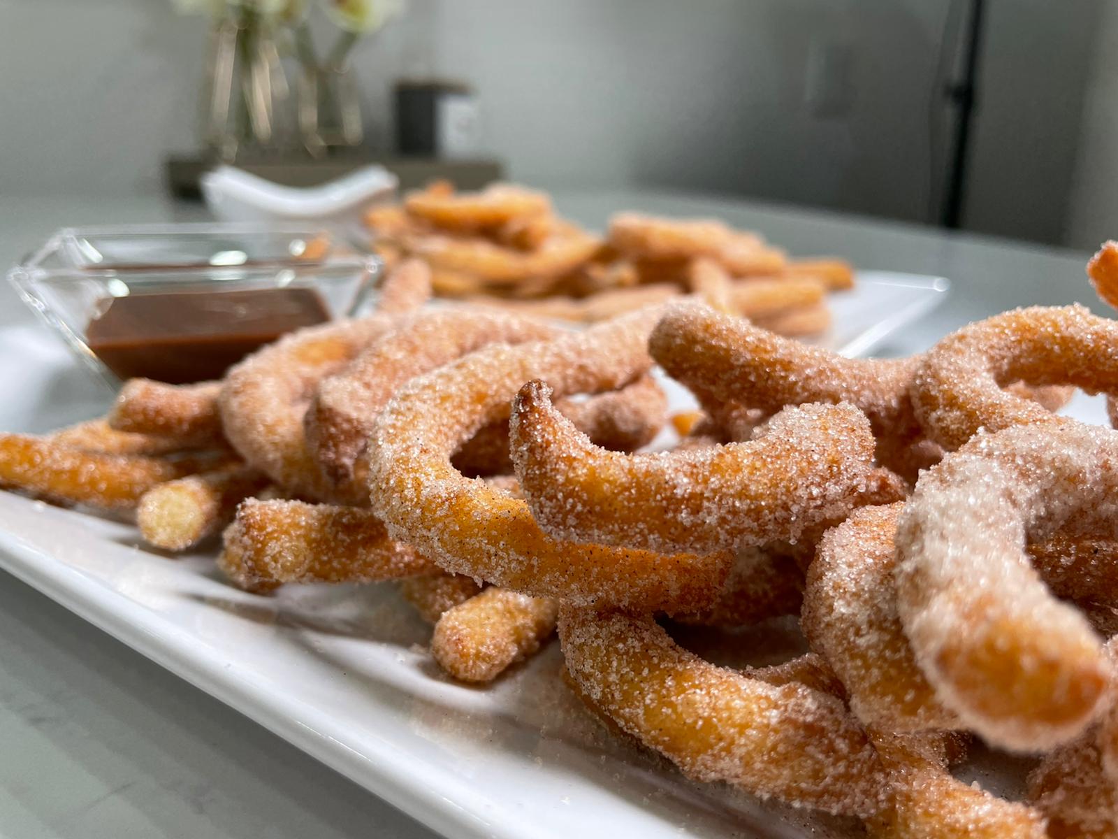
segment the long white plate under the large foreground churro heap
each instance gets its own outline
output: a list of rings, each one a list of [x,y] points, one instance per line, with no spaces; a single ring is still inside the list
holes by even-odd
[[[866,353],[946,287],[864,273],[834,298],[824,342]],[[0,330],[0,386],[25,397],[0,405],[0,430],[104,411],[104,389],[85,376],[39,327]],[[171,558],[129,525],[0,492],[0,566],[446,836],[819,837],[849,827],[690,783],[609,735],[562,686],[555,643],[490,688],[464,687],[430,662],[429,629],[390,586],[256,596],[227,585],[212,557]],[[769,649],[779,635],[768,631],[765,654],[781,654]]]

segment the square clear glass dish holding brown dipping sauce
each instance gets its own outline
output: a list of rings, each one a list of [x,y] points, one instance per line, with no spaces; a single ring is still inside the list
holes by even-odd
[[[379,273],[329,228],[181,224],[63,228],[8,279],[115,387],[218,378],[284,332],[356,313]]]

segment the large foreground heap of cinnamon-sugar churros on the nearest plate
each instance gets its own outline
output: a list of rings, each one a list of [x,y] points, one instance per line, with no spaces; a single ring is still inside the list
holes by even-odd
[[[1118,301],[1118,244],[1089,274]],[[558,630],[612,729],[869,836],[1118,836],[1118,432],[1055,413],[1118,394],[1118,321],[1021,309],[851,360],[698,292],[576,331],[430,284],[401,260],[378,311],[221,381],[2,435],[0,482],[171,550],[224,528],[252,592],[398,581],[465,681]],[[637,451],[655,365],[702,409]],[[786,615],[809,651],[770,667],[672,634]],[[953,775],[977,738],[1034,756],[1020,800]]]

